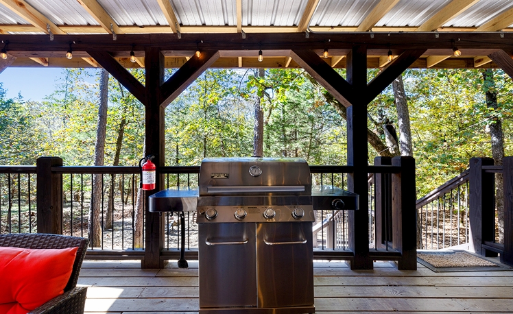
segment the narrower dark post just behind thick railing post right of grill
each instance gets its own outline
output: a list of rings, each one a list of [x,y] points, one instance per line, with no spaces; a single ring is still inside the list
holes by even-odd
[[[390,157],[374,158],[375,166],[392,165]],[[385,248],[387,242],[392,242],[392,177],[390,173],[374,173],[376,191],[376,208],[374,208],[376,226],[376,244]]]

